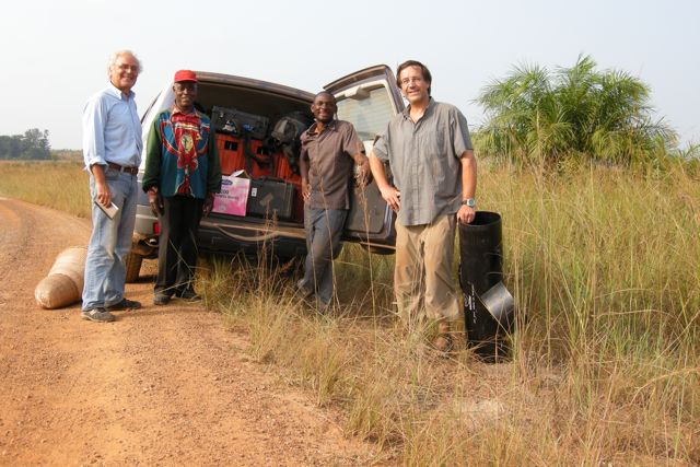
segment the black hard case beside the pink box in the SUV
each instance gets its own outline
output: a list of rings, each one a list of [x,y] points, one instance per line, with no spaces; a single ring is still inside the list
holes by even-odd
[[[250,179],[247,213],[290,220],[294,217],[296,187],[275,178]]]

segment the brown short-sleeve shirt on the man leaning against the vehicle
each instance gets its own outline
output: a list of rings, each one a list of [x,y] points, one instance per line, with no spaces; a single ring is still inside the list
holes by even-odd
[[[316,124],[301,136],[302,157],[308,156],[308,206],[315,209],[350,209],[353,155],[364,145],[352,124],[332,120],[316,132]]]

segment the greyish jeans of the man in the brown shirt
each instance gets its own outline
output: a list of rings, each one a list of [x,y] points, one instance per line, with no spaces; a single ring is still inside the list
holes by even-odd
[[[332,299],[332,260],[340,255],[340,236],[348,211],[345,209],[304,209],[306,229],[306,261],[300,288],[314,290],[327,305]]]

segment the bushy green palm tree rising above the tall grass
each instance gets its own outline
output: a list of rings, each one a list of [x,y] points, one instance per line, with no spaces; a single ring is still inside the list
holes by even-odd
[[[475,142],[486,153],[546,166],[563,156],[615,164],[648,161],[675,143],[653,120],[650,89],[622,71],[597,71],[580,56],[571,68],[515,67],[487,85],[477,102],[487,121]]]

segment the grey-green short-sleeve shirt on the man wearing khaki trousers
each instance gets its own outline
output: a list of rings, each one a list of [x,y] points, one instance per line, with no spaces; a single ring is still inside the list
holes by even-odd
[[[467,119],[457,107],[430,100],[425,114],[413,122],[407,107],[389,121],[373,154],[388,162],[400,191],[401,225],[432,223],[454,214],[462,203],[462,162],[471,149]]]

